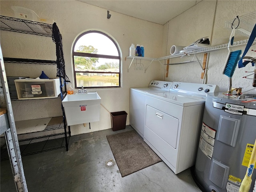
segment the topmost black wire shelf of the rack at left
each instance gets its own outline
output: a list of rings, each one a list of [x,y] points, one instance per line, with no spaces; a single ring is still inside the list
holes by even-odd
[[[0,16],[0,22],[1,30],[52,37],[51,24],[12,18],[2,15]]]

